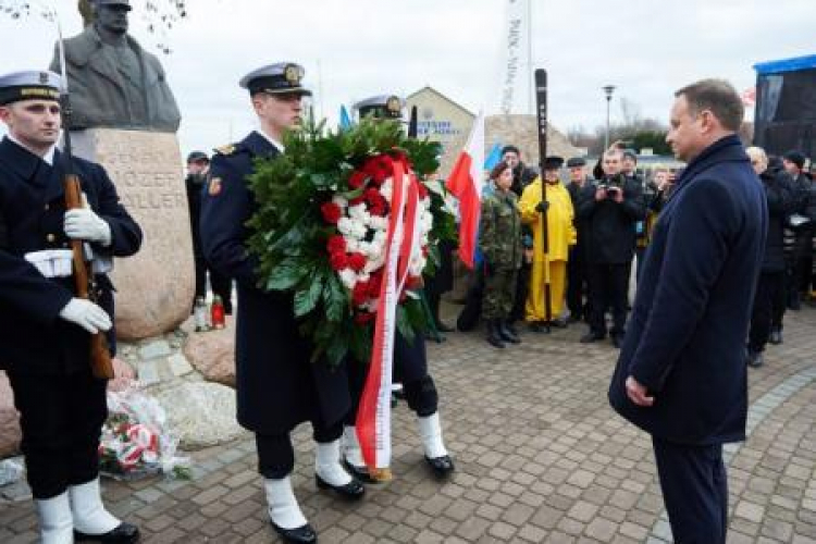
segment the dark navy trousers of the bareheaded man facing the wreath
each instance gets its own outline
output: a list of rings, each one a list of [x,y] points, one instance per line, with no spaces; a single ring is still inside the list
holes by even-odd
[[[652,437],[675,542],[725,544],[728,478],[722,445],[689,446]]]

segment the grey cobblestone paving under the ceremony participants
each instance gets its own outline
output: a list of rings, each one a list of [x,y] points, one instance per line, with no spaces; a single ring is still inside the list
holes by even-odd
[[[751,436],[729,449],[733,543],[816,543],[816,310],[786,317],[781,346],[750,372]],[[394,473],[347,504],[313,482],[309,430],[296,436],[295,492],[323,543],[667,542],[647,436],[608,408],[617,351],[583,326],[524,333],[504,350],[481,333],[429,344],[457,472],[431,478],[405,403]],[[191,482],[106,481],[108,505],[145,541],[276,542],[251,441],[194,454]],[[0,542],[36,541],[29,502],[0,504]]]

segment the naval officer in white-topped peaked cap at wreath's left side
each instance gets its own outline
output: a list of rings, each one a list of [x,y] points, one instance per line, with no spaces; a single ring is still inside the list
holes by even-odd
[[[343,418],[350,407],[345,368],[310,361],[312,346],[298,332],[292,295],[258,288],[258,259],[246,246],[250,235],[246,222],[256,206],[247,176],[255,171],[255,160],[284,152],[284,134],[299,124],[301,99],[311,94],[301,86],[302,76],[301,66],[280,63],[240,81],[249,90],[260,128],[213,157],[200,223],[207,262],[237,283],[238,422],[255,432],[269,516],[273,529],[287,542],[317,541],[289,481],[295,463],[289,433],[298,424],[312,424],[317,485],[345,498],[360,498],[364,493],[339,460]]]

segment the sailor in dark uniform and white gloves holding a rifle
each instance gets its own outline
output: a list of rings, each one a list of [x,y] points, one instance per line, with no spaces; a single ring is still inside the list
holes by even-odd
[[[65,210],[60,78],[51,72],[0,77],[0,369],[20,411],[28,483],[45,544],[127,543],[138,529],[109,514],[99,493],[99,435],[108,416],[104,380],[90,371],[90,334],[114,346],[112,257],[135,254],[141,231],[104,170],[73,166],[87,205]],[[76,298],[72,239],[96,256],[94,304]]]

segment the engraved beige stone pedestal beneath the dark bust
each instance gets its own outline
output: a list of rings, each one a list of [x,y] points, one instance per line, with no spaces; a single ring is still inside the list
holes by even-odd
[[[74,133],[77,156],[99,162],[145,233],[141,250],[116,260],[116,333],[139,339],[187,317],[195,288],[189,211],[174,134],[95,128]]]

